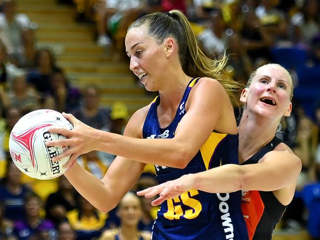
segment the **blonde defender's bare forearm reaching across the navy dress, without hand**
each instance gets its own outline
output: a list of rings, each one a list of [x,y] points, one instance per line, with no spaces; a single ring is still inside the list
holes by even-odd
[[[230,193],[244,186],[244,172],[238,165],[227,164],[208,171],[190,174],[192,189],[209,193]]]

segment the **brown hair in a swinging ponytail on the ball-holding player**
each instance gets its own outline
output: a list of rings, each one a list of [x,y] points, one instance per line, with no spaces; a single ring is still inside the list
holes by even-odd
[[[233,105],[239,105],[236,92],[242,90],[242,84],[227,77],[224,66],[227,57],[212,60],[205,56],[197,44],[195,34],[186,16],[179,10],[168,13],[151,13],[137,19],[130,27],[147,26],[148,34],[161,43],[171,36],[177,40],[179,60],[183,71],[191,77],[210,77],[219,81],[226,90]]]

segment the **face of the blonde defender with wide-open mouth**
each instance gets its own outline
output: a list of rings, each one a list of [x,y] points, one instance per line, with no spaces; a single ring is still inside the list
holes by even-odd
[[[243,90],[240,101],[251,113],[280,120],[291,112],[291,86],[292,80],[285,69],[277,65],[262,66],[250,87]]]

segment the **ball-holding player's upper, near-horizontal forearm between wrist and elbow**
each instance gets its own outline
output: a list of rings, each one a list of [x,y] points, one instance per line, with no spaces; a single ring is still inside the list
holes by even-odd
[[[184,168],[192,159],[175,138],[140,139],[99,131],[96,150],[135,161],[173,168]],[[195,153],[194,153],[195,154]]]

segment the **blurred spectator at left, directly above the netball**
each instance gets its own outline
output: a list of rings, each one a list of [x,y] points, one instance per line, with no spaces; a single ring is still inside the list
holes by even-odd
[[[31,93],[25,74],[17,75],[12,81],[12,91],[8,98],[12,107],[16,107],[22,115],[38,109],[38,97]]]

